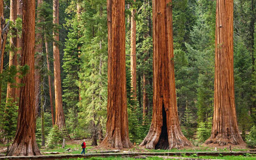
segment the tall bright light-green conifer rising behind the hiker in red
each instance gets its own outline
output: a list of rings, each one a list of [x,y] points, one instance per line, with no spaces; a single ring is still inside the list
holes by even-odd
[[[83,136],[105,131],[107,121],[107,2],[83,1],[80,22],[81,66],[76,82],[81,89],[79,129]],[[84,130],[86,128],[86,130]]]

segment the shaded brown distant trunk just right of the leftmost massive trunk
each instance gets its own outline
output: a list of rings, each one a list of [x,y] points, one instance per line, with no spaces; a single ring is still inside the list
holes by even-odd
[[[43,0],[37,0],[37,7],[40,7],[43,3]],[[40,9],[37,9],[37,19],[38,23],[42,21],[42,17],[39,15]],[[41,31],[42,28],[38,28],[38,31]],[[35,59],[35,107],[36,107],[36,116],[38,115],[39,107],[39,95],[40,95],[40,54],[43,52],[43,35],[42,33],[36,33],[36,59]]]

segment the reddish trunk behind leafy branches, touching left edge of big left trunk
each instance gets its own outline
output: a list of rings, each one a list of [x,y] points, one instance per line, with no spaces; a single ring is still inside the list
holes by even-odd
[[[21,19],[22,19],[22,4],[23,4],[23,0],[18,0],[17,16]],[[21,47],[22,47],[22,39],[21,39],[21,37],[17,37],[17,48],[21,48]],[[22,61],[21,51],[22,51],[21,49],[17,50],[17,65],[20,65],[21,61]],[[16,82],[17,82],[17,84],[21,83],[21,79],[18,76],[16,77]],[[15,90],[16,101],[19,101],[20,91],[21,91],[20,87],[17,87]]]

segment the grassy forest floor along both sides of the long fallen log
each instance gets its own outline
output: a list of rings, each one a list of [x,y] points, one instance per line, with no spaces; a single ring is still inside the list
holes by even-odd
[[[51,154],[80,154],[82,149],[81,149],[81,144],[83,140],[71,140],[71,141],[66,141],[66,146],[65,148],[62,148],[61,145],[56,146],[56,148],[50,149],[46,147],[41,147],[40,151],[43,155],[51,155]],[[86,139],[86,149],[85,153],[100,153],[104,151],[109,151],[109,150],[114,150],[113,148],[100,148],[98,146],[91,146],[91,140]],[[98,143],[99,144],[99,143]],[[216,148],[215,148],[216,147]],[[0,151],[6,147],[0,145]],[[182,149],[171,149],[171,150],[149,150],[145,148],[141,148],[139,146],[134,146],[134,148],[125,148],[120,151],[120,153],[123,152],[227,152],[230,151],[230,146],[215,146],[215,145],[205,145],[201,144],[199,146],[190,146],[187,148],[182,148]],[[241,146],[231,146],[232,151],[250,151],[251,149],[247,148],[245,145]],[[5,154],[5,152],[3,152]],[[184,156],[187,158],[193,158],[192,156]],[[195,157],[195,155],[194,155]],[[205,159],[232,159],[232,160],[256,160],[256,155],[244,155],[244,156],[223,156],[219,155],[218,157],[214,156],[200,156],[196,158],[205,158]],[[92,158],[92,160],[123,160],[121,157],[117,158]],[[134,160],[133,158],[125,158],[126,160]],[[147,158],[148,160],[163,160],[166,158],[163,158],[161,156],[158,157],[149,157]],[[69,159],[71,160],[71,159]],[[74,159],[78,160],[78,159]]]

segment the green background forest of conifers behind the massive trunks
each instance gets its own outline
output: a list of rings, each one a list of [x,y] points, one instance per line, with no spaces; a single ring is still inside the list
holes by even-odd
[[[9,0],[4,0],[4,15],[9,19]],[[53,127],[50,94],[53,87],[53,39],[59,28],[62,99],[66,131],[72,139],[92,138],[101,141],[107,121],[107,2],[105,0],[60,0],[59,25],[52,23],[52,0],[36,7],[36,34],[42,35],[43,52],[36,68],[40,74],[40,93],[36,96],[38,145],[53,147],[52,137],[59,135]],[[173,0],[173,36],[175,82],[178,114],[183,134],[194,145],[211,135],[215,65],[214,0]],[[256,132],[256,40],[254,0],[234,0],[234,74],[235,105],[239,129]],[[132,96],[130,74],[131,11],[136,9],[136,98]],[[40,15],[40,16],[38,16]],[[9,68],[12,31],[21,34],[21,19],[10,22],[1,74],[0,142],[14,139],[17,125],[17,103],[7,98],[7,83],[14,82],[18,72]],[[55,41],[56,42],[56,41]],[[40,41],[37,41],[40,43]],[[129,137],[139,144],[147,135],[152,119],[153,45],[152,0],[126,0],[126,79]],[[132,55],[133,56],[133,55]],[[47,61],[50,61],[50,71]],[[26,68],[23,68],[26,70]],[[51,84],[48,83],[50,77]],[[15,85],[13,87],[19,87]],[[55,104],[53,98],[53,106]],[[53,112],[55,113],[55,112]],[[42,134],[43,131],[43,134]],[[254,135],[255,136],[255,135]],[[46,138],[44,138],[46,137]],[[59,137],[61,138],[61,137]],[[254,141],[254,143],[256,143]],[[255,146],[255,144],[252,144]]]

